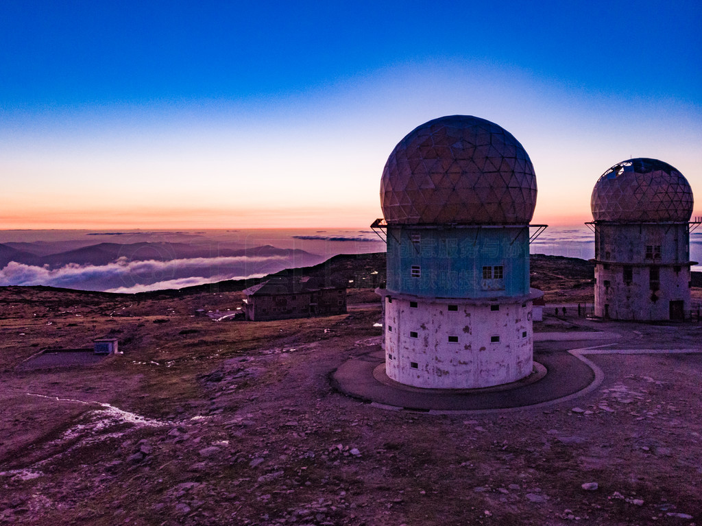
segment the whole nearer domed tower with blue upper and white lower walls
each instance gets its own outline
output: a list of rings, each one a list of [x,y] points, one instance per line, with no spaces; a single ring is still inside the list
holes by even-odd
[[[465,115],[422,124],[390,154],[380,203],[388,377],[482,388],[531,374],[536,176],[517,139]]]

